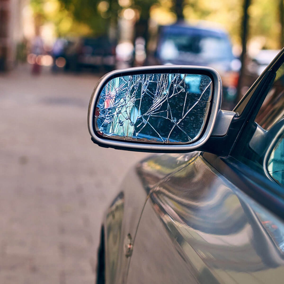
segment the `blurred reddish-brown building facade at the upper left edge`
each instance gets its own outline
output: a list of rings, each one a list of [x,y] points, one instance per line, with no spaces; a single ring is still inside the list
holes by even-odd
[[[24,39],[22,11],[28,0],[0,0],[0,71],[11,69]]]

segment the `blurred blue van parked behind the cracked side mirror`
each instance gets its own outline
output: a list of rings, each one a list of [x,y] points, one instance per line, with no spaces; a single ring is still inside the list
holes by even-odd
[[[233,108],[241,62],[232,53],[227,32],[180,23],[160,26],[154,46],[156,48],[149,53],[147,65],[182,64],[215,68],[223,81],[223,108]]]

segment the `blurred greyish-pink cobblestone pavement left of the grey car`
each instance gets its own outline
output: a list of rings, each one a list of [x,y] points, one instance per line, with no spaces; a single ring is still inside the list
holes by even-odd
[[[94,283],[103,211],[146,154],[87,131],[97,77],[0,76],[0,283]]]

